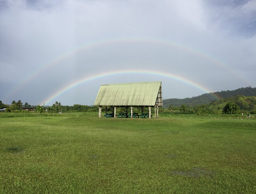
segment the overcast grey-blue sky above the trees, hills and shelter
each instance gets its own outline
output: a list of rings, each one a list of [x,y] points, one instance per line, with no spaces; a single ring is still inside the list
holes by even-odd
[[[256,87],[256,0],[0,0],[0,72],[5,104],[92,105],[111,83],[162,81],[164,99]]]

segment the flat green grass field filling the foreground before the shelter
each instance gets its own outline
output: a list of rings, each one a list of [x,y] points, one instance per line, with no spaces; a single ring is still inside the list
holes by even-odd
[[[256,120],[0,118],[0,193],[255,193]]]

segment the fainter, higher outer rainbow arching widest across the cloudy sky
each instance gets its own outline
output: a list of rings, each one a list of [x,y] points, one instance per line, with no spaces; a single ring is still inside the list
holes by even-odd
[[[248,81],[245,78],[241,77],[241,75],[239,75],[233,69],[229,68],[223,62],[218,61],[215,58],[213,58],[212,56],[210,56],[208,54],[205,54],[201,51],[197,51],[194,48],[192,49],[190,47],[183,46],[181,44],[177,44],[177,43],[174,43],[174,42],[170,42],[170,41],[166,41],[166,40],[159,40],[159,39],[152,39],[152,38],[119,38],[119,39],[103,40],[103,41],[101,40],[101,41],[97,41],[97,42],[91,42],[91,43],[88,43],[84,46],[76,48],[75,50],[69,50],[65,54],[59,55],[57,58],[52,59],[49,62],[41,65],[39,68],[37,68],[34,72],[32,72],[29,76],[25,77],[23,80],[20,80],[19,84],[17,84],[16,87],[14,87],[9,92],[9,94],[6,95],[5,99],[12,96],[12,94],[16,93],[20,89],[24,88],[27,83],[31,82],[32,80],[35,80],[37,75],[39,75],[40,73],[43,73],[43,72],[47,71],[47,69],[51,68],[52,66],[59,65],[61,61],[67,59],[68,57],[70,57],[70,56],[72,56],[76,53],[86,51],[86,50],[90,50],[94,47],[101,47],[101,46],[105,46],[105,45],[121,44],[121,43],[122,44],[123,43],[147,43],[147,44],[150,43],[150,44],[161,44],[161,45],[166,45],[166,46],[169,46],[169,47],[174,47],[174,48],[180,49],[184,52],[191,53],[191,54],[194,54],[194,55],[199,56],[201,58],[204,58],[204,59],[208,60],[209,62],[212,62],[213,64],[215,64],[218,68],[226,70],[226,71],[232,73],[238,79],[246,81],[248,83]],[[175,76],[171,75],[171,77],[174,78]]]

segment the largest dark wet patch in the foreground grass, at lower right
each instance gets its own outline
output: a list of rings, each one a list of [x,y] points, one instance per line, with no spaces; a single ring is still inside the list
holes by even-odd
[[[191,171],[172,170],[171,175],[181,175],[190,177],[211,177],[214,172],[204,168],[194,168]]]

